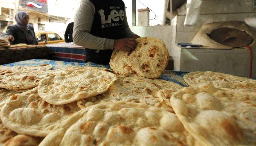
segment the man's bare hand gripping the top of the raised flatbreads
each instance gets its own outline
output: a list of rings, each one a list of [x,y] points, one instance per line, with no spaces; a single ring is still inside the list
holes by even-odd
[[[132,51],[136,47],[136,41],[134,38],[116,39],[114,41],[114,49]]]

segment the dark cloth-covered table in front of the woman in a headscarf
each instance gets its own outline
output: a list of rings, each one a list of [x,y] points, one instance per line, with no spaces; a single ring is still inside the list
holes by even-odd
[[[27,45],[0,50],[0,65],[28,59],[49,59],[53,51],[45,45]]]

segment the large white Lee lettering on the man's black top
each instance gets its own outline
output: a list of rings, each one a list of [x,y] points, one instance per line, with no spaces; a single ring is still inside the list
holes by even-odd
[[[110,15],[108,15],[108,20],[105,19],[105,14],[104,14],[104,10],[103,9],[100,9],[98,12],[99,12],[99,15],[101,15],[101,24],[111,23],[112,20],[114,20],[114,22],[117,22],[120,19],[122,21],[124,21],[124,11],[123,10],[120,10],[118,12],[115,9],[113,9],[110,12]]]

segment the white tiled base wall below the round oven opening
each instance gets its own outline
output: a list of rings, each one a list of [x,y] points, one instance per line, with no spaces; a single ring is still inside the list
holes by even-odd
[[[252,51],[253,56],[256,50]],[[256,77],[253,58],[252,77]],[[250,66],[249,50],[181,49],[180,70],[186,72],[213,71],[248,77]]]

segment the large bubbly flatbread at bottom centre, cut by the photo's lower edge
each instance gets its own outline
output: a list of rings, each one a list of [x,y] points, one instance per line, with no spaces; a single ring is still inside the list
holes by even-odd
[[[173,113],[150,105],[115,102],[84,108],[39,146],[174,146],[194,142]]]

